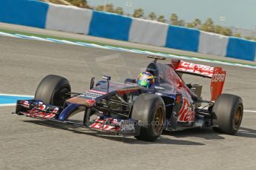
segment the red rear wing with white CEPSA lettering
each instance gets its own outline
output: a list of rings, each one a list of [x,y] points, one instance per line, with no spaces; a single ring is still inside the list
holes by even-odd
[[[221,67],[210,67],[180,60],[171,60],[171,67],[173,67],[176,72],[211,78],[211,101],[215,101],[223,91],[226,71]]]

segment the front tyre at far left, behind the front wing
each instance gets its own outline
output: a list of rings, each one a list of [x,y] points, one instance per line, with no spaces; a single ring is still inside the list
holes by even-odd
[[[36,89],[35,100],[54,106],[63,106],[70,98],[68,94],[70,91],[70,84],[66,78],[59,75],[47,75]]]

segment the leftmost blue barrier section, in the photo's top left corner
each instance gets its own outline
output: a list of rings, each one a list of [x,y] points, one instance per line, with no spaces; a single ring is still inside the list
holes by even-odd
[[[48,4],[33,0],[1,0],[0,21],[45,28]]]

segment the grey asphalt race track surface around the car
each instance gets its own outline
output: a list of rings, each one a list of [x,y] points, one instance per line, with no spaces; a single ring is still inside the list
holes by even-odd
[[[68,78],[74,92],[83,92],[92,76],[123,81],[149,61],[129,52],[0,36],[0,93],[33,95],[48,74]],[[256,70],[221,66],[227,71],[224,92],[240,95],[245,109],[256,110]],[[203,84],[209,98],[209,79],[185,79]],[[14,109],[0,107],[0,169],[256,169],[253,112],[244,112],[235,136],[190,129],[164,132],[150,143],[12,115]]]

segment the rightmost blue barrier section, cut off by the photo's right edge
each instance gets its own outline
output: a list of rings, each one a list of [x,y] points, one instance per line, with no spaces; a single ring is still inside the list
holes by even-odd
[[[255,50],[255,41],[230,37],[226,57],[255,61]]]

